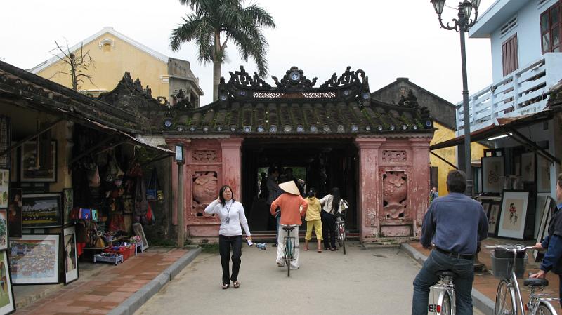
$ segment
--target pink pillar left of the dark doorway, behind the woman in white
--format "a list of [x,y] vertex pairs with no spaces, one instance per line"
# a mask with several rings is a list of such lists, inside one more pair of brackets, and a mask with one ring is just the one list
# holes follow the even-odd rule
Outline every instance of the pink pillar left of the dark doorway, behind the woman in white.
[[223,157],[223,183],[222,185],[229,185],[233,189],[234,198],[240,200],[241,195],[241,182],[242,182],[242,138],[228,138],[221,139],[221,152]]

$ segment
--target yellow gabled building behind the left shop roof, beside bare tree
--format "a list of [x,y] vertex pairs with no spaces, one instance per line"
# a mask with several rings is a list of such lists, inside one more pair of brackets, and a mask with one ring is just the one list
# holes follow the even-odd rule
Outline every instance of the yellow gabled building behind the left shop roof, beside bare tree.
[[[70,47],[69,51],[79,54],[81,48],[84,53],[89,53],[95,66],[84,71],[84,74],[88,74],[92,79],[90,82],[84,78],[84,82],[80,83],[79,91],[82,93],[98,96],[100,93],[112,91],[124,73],[129,72],[133,79],[140,79],[143,88],[148,86],[155,98],[164,96],[174,105],[172,95],[177,95],[181,89],[193,107],[200,106],[203,91],[199,86],[199,78],[191,72],[190,64],[186,60],[169,58],[112,27],[103,28]],[[63,57],[60,53],[29,71],[72,88],[70,76],[61,73],[70,72],[70,67],[60,60]]]

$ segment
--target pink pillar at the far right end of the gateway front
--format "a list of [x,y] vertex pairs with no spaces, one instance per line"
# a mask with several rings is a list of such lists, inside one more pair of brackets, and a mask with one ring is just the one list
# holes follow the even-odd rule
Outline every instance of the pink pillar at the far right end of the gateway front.
[[431,138],[410,138],[412,146],[412,188],[408,189],[412,202],[412,215],[414,236],[421,234],[421,225],[429,206],[429,142]]

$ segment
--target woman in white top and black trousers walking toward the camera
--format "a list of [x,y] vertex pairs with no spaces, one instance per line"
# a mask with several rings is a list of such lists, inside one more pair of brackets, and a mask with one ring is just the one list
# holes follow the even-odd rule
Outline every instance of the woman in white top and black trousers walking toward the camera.
[[[221,227],[218,229],[218,251],[221,254],[221,264],[223,266],[223,289],[228,289],[230,281],[233,281],[234,288],[240,288],[238,282],[238,272],[242,260],[242,227],[246,232],[246,239],[251,241],[251,233],[248,221],[244,214],[242,203],[233,198],[233,189],[228,185],[221,187],[218,198],[211,202],[205,213],[218,215],[221,220]],[[230,276],[230,266],[228,256],[232,248],[233,272]]]

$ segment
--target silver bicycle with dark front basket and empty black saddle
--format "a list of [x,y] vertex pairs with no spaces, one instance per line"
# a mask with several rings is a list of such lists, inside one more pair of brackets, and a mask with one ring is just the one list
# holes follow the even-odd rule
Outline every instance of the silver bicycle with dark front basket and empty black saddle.
[[[486,248],[494,249],[492,255],[492,271],[494,276],[500,278],[497,285],[495,313],[497,315],[558,315],[556,310],[550,304],[552,301],[560,299],[546,297],[545,293],[535,293],[542,291],[549,285],[547,279],[529,278],[523,281],[523,286],[529,288],[529,302],[523,304],[521,298],[521,290],[517,282],[517,276],[523,276],[525,272],[525,262],[527,260],[526,250],[532,246],[486,246]],[[501,250],[498,250],[501,249]],[[510,257],[497,257],[497,255],[509,254]],[[523,253],[523,257],[521,256]],[[525,309],[527,313],[525,313]]]

